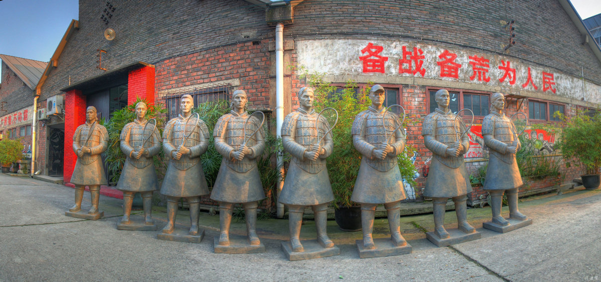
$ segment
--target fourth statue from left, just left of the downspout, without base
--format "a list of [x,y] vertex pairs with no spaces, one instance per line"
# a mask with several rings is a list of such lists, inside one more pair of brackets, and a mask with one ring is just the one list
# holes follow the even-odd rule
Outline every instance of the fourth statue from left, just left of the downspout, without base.
[[[219,222],[221,235],[219,245],[230,245],[230,223],[235,203],[242,203],[246,216],[246,230],[251,245],[259,245],[257,236],[257,201],[265,198],[261,177],[257,168],[257,157],[263,153],[265,142],[261,129],[242,146],[245,136],[244,126],[249,117],[246,112],[246,92],[236,90],[232,94],[231,111],[222,115],[213,130],[215,149],[223,155],[221,167],[213,185],[211,199],[219,201]],[[261,126],[260,120],[246,125],[248,136]]]

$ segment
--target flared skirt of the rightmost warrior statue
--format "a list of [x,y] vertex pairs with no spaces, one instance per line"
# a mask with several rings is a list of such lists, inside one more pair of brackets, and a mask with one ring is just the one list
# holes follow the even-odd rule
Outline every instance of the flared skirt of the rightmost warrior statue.
[[494,154],[490,154],[486,179],[484,179],[484,190],[507,190],[522,185],[522,176],[520,176],[515,159],[512,164],[507,164]]

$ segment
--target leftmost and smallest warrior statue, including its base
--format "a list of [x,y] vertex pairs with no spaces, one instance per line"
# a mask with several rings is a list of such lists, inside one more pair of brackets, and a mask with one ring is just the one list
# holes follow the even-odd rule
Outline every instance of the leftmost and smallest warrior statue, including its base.
[[[73,134],[73,152],[78,156],[71,183],[75,184],[75,205],[65,213],[67,216],[96,220],[102,218],[99,212],[100,185],[106,185],[105,169],[100,154],[108,147],[106,128],[98,124],[96,108],[88,106],[85,111],[85,123],[78,126]],[[90,187],[92,208],[81,213],[81,201],[85,186]]]

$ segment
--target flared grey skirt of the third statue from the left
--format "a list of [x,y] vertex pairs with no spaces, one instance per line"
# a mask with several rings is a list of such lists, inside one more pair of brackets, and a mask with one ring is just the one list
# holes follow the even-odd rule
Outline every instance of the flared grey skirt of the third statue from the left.
[[178,170],[169,162],[160,194],[169,197],[196,197],[209,194],[207,179],[200,161],[188,170]]

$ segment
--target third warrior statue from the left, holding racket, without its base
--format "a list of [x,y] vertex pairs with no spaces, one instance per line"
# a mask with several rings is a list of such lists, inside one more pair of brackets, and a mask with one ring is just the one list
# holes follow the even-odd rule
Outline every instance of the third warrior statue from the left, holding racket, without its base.
[[200,156],[209,148],[209,129],[203,120],[192,116],[194,101],[186,94],[181,99],[181,112],[165,125],[163,150],[170,161],[160,194],[167,197],[167,224],[162,233],[172,233],[175,226],[177,202],[186,198],[190,207],[189,234],[198,235],[200,196],[209,194]]

